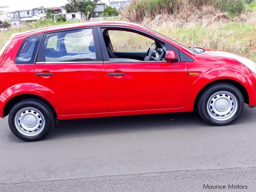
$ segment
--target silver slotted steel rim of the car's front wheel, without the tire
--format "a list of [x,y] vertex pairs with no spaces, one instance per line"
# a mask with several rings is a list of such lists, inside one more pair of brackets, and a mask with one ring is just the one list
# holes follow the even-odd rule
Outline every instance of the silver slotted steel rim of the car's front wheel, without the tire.
[[220,91],[210,96],[207,102],[209,115],[216,120],[228,120],[237,111],[237,99],[228,91]]

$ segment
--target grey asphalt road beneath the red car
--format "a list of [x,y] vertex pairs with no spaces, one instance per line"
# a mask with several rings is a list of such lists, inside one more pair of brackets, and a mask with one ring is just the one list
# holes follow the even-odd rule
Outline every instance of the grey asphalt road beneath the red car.
[[0,119],[0,191],[256,191],[255,117],[245,106],[225,127],[193,113],[68,120],[37,142]]

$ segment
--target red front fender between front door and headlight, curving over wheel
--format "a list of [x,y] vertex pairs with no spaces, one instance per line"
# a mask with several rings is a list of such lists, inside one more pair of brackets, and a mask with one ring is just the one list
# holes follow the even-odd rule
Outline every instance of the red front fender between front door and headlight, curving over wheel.
[[238,81],[244,73],[233,68],[216,68],[197,76],[189,75],[189,87],[184,107],[180,108],[181,112],[193,111],[195,99],[199,92],[208,84],[218,80]]

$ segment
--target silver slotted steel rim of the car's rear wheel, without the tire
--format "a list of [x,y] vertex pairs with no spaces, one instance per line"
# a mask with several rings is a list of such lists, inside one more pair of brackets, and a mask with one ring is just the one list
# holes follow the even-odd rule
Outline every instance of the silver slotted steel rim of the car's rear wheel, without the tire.
[[38,109],[26,107],[15,115],[15,126],[21,134],[35,136],[43,131],[45,118]]

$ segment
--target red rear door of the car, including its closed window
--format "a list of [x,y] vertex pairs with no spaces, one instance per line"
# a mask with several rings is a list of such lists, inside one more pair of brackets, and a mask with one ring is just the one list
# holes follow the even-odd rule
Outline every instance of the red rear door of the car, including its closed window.
[[62,115],[108,112],[107,85],[97,30],[48,33],[34,67],[35,89]]

